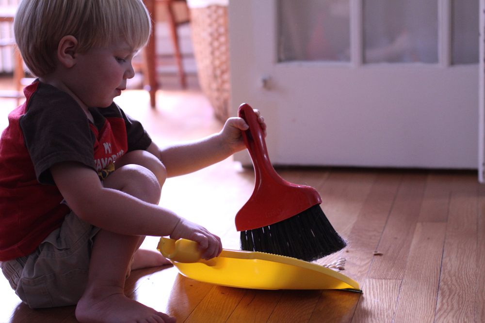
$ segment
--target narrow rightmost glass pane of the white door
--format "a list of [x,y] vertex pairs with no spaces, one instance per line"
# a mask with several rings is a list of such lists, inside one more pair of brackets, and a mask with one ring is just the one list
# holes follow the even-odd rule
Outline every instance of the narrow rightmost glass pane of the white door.
[[453,0],[452,63],[478,63],[479,2]]

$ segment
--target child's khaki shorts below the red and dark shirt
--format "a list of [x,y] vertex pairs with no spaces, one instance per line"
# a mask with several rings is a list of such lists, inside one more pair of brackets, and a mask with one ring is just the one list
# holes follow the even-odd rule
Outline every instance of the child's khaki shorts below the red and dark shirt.
[[71,212],[32,254],[1,262],[3,275],[31,308],[77,304],[86,288],[98,231]]

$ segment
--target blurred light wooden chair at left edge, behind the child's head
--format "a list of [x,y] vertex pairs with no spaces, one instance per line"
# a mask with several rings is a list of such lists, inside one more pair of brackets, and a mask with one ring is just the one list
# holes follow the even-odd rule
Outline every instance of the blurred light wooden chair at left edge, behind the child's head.
[[[16,6],[0,6],[0,23],[10,23],[14,21]],[[23,96],[22,92],[22,78],[25,77],[23,68],[23,61],[20,52],[16,48],[15,39],[12,37],[0,39],[0,47],[10,46],[14,49],[14,86],[15,90],[0,91],[1,97],[17,98],[17,103],[20,97]]]

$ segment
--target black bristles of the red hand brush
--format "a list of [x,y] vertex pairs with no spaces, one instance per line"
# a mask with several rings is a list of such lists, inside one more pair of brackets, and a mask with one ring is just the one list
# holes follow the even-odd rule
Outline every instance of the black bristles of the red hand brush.
[[241,249],[314,261],[347,246],[320,205],[263,228],[241,231]]

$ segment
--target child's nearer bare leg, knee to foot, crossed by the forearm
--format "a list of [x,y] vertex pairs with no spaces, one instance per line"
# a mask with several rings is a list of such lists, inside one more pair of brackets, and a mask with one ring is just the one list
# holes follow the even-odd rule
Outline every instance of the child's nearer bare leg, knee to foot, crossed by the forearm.
[[[118,168],[104,181],[104,186],[122,190],[150,203],[160,199],[158,180],[151,171],[137,165]],[[142,239],[106,230],[97,233],[88,284],[76,308],[76,318],[80,322],[175,322],[174,318],[124,294],[129,263]]]

